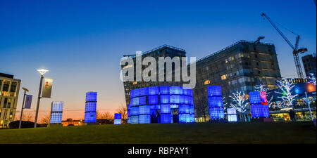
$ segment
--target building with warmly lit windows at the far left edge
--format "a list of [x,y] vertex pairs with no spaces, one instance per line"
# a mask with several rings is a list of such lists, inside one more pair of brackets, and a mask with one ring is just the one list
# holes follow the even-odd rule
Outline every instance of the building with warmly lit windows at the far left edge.
[[0,128],[8,128],[15,117],[20,83],[13,75],[0,73]]

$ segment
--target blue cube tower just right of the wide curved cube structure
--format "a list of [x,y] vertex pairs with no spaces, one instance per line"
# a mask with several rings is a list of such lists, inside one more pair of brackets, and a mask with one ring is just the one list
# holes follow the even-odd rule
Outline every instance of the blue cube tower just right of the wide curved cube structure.
[[223,111],[223,97],[221,86],[207,87],[209,100],[209,114],[211,119],[224,119],[225,112]]

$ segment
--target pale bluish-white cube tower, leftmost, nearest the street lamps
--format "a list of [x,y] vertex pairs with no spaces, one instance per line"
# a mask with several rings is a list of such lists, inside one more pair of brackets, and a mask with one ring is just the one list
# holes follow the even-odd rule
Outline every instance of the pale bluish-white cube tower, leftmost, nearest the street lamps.
[[63,102],[52,102],[51,103],[51,119],[50,124],[61,124],[61,119],[63,115]]

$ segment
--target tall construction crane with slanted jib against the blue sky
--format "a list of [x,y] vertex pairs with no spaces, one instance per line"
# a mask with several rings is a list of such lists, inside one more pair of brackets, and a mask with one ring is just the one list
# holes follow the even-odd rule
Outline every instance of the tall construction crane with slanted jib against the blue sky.
[[[262,13],[261,16],[264,16],[268,22],[271,23],[271,25],[276,29],[276,31],[278,31],[278,33],[280,34],[280,36],[282,36],[282,38],[287,42],[287,44],[293,49],[293,56],[294,56],[294,61],[295,61],[295,67],[297,70],[297,75],[299,77],[299,79],[303,79],[304,78],[304,74],[302,71],[302,66],[301,66],[301,62],[299,60],[299,53],[304,53],[305,51],[307,51],[307,48],[300,48],[298,49],[298,45],[299,45],[299,35],[297,35],[296,37],[296,42],[293,45],[290,40],[287,39],[287,37],[285,37],[285,35],[280,31],[280,29],[278,29],[278,27],[274,24],[274,22],[271,20],[271,18],[269,18],[265,13]],[[294,32],[292,32],[292,34],[294,34]]]

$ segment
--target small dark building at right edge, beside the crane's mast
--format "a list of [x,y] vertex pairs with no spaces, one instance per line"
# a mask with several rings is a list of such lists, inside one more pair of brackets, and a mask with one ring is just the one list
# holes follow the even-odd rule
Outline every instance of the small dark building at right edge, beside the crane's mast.
[[316,54],[303,56],[302,62],[306,77],[308,78],[310,73],[313,73],[316,76]]

